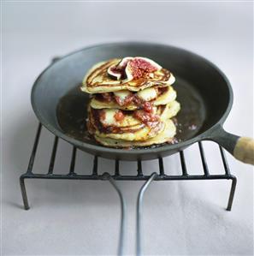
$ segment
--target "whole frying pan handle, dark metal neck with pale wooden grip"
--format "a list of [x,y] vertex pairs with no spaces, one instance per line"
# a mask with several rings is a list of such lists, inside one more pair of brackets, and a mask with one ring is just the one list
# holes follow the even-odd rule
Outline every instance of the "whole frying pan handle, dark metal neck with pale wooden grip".
[[252,138],[229,134],[222,126],[219,126],[211,134],[210,140],[216,141],[239,161],[254,165],[254,140]]

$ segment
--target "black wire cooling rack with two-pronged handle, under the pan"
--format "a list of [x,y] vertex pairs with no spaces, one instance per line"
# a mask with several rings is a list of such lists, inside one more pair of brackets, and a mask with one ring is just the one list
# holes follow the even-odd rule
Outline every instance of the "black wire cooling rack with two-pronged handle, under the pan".
[[73,146],[73,152],[72,152],[72,158],[70,162],[70,167],[69,167],[69,172],[68,174],[65,175],[58,175],[54,174],[54,164],[55,164],[55,158],[56,158],[56,150],[57,150],[57,144],[58,144],[58,137],[55,136],[54,140],[54,145],[52,148],[51,152],[51,157],[50,157],[50,165],[49,165],[49,170],[47,174],[34,174],[32,172],[32,166],[34,163],[37,147],[38,147],[38,142],[40,138],[40,133],[42,129],[42,124],[38,124],[38,130],[37,134],[35,136],[34,144],[32,147],[32,153],[31,157],[29,160],[27,172],[20,177],[20,182],[21,182],[21,193],[22,193],[22,198],[24,202],[24,208],[25,210],[29,209],[28,205],[28,199],[27,199],[27,190],[25,186],[25,179],[55,179],[55,180],[108,180],[112,186],[115,188],[115,191],[118,193],[120,201],[121,201],[121,228],[120,228],[120,240],[118,244],[118,254],[121,255],[124,250],[124,236],[125,236],[125,224],[126,224],[126,204],[125,200],[122,196],[121,190],[118,188],[117,183],[115,180],[119,181],[146,181],[143,187],[139,191],[139,196],[137,200],[137,255],[141,254],[141,216],[142,216],[142,201],[144,197],[145,190],[149,187],[152,181],[193,181],[193,180],[232,180],[231,184],[231,190],[229,194],[229,199],[227,203],[227,211],[231,211],[232,204],[233,204],[233,195],[236,187],[236,182],[237,179],[235,176],[233,176],[230,173],[228,164],[227,164],[227,159],[225,156],[225,153],[222,149],[221,146],[220,152],[222,156],[222,163],[223,167],[225,170],[225,174],[220,174],[220,175],[210,175],[207,163],[206,163],[206,158],[204,156],[204,148],[202,145],[202,142],[198,142],[198,147],[199,147],[199,152],[200,152],[200,157],[202,160],[203,164],[203,170],[204,170],[204,175],[189,175],[187,172],[186,168],[186,161],[185,161],[185,156],[184,152],[180,151],[180,164],[181,164],[181,170],[182,170],[182,175],[179,176],[170,176],[166,175],[164,173],[164,165],[163,165],[163,159],[158,158],[158,164],[159,164],[159,173],[154,172],[151,174],[151,176],[146,176],[143,174],[142,171],[142,162],[139,160],[137,161],[138,164],[138,170],[137,170],[137,175],[136,176],[123,176],[121,175],[119,171],[119,160],[115,160],[115,174],[114,175],[109,175],[109,173],[105,172],[102,175],[99,175],[97,173],[97,157],[94,157],[93,160],[93,168],[92,168],[92,173],[90,175],[79,175],[75,173],[75,158],[76,158],[76,152],[77,148]]

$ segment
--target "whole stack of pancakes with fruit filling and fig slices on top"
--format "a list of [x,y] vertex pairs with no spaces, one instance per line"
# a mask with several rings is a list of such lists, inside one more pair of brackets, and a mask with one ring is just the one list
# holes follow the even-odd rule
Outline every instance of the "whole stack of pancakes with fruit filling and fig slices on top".
[[97,63],[81,86],[92,95],[89,133],[110,147],[172,143],[176,128],[171,118],[180,110],[174,80],[167,69],[145,57]]

